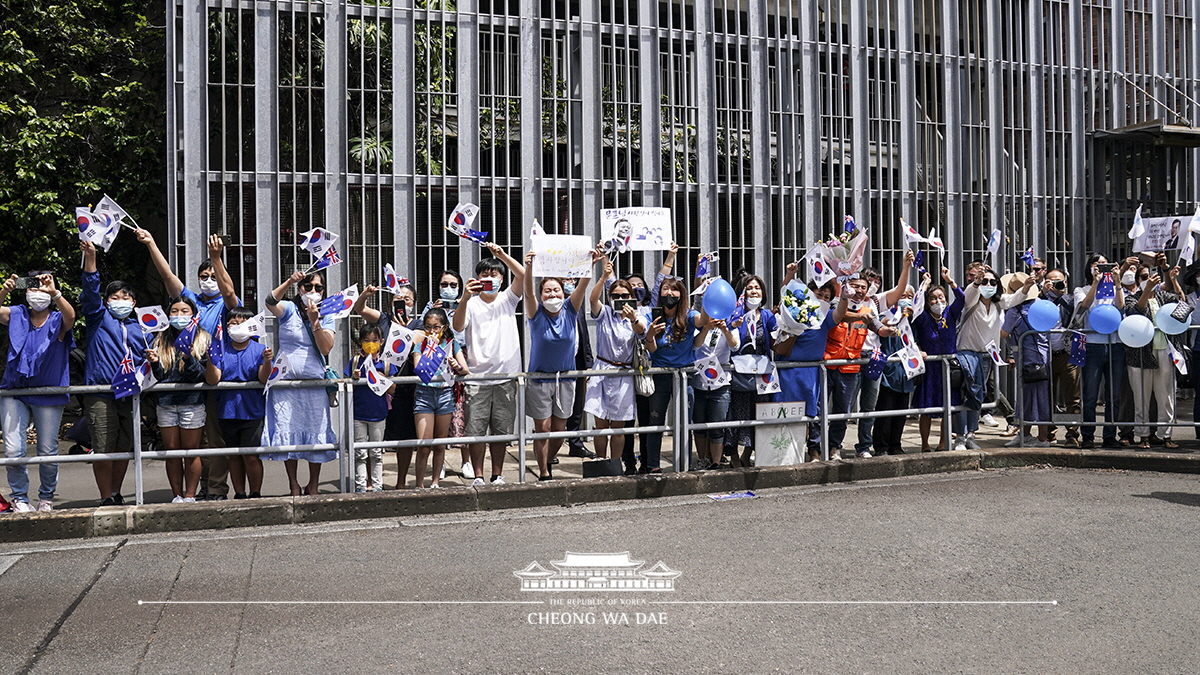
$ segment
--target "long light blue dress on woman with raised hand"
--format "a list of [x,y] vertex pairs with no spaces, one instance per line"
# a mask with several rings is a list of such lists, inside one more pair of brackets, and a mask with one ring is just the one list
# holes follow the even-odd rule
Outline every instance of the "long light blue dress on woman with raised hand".
[[[325,360],[312,344],[305,317],[295,304],[283,300],[280,317],[280,352],[287,354],[290,372],[287,380],[320,380],[325,376]],[[322,319],[322,327],[334,329],[334,319]],[[263,424],[263,446],[310,446],[336,443],[337,436],[329,422],[329,396],[324,387],[284,389],[271,387],[266,393],[266,419]],[[326,462],[337,459],[337,450],[313,453],[265,453],[266,460],[302,459]]]

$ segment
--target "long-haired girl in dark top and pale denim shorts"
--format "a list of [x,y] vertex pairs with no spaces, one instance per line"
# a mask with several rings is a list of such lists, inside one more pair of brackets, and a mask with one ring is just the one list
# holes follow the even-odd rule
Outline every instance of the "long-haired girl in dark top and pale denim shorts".
[[[170,325],[158,334],[146,360],[162,383],[204,382],[204,360],[211,336],[199,327],[196,303],[179,298],[168,307]],[[204,392],[158,394],[158,432],[167,450],[200,447],[206,411]],[[167,480],[174,494],[172,503],[194,502],[200,485],[200,458],[168,459]]]

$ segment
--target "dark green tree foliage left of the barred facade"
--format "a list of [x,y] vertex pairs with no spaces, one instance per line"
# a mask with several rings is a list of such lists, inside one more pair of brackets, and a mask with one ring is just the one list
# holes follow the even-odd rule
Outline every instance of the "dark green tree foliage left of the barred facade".
[[[78,280],[74,208],[104,193],[143,227],[166,219],[161,1],[0,0],[0,273]],[[128,231],[101,257],[139,285]]]

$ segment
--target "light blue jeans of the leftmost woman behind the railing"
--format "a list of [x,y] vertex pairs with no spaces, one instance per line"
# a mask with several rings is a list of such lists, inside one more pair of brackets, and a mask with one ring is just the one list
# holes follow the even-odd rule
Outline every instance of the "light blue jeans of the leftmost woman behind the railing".
[[[6,458],[25,456],[25,430],[32,419],[34,429],[37,430],[37,454],[38,456],[50,456],[59,454],[59,423],[62,422],[64,406],[31,406],[18,401],[16,396],[0,399],[0,416],[4,425],[4,454]],[[24,465],[10,466],[8,488],[12,490],[12,501],[29,501],[29,471]],[[37,486],[37,496],[46,501],[54,498],[54,490],[59,486],[59,465],[43,464],[37,468],[41,485]]]

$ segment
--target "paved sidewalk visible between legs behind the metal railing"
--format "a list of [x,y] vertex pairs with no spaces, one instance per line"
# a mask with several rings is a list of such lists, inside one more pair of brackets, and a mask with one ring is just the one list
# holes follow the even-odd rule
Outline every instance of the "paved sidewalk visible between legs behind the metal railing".
[[[1178,416],[1181,422],[1192,422],[1192,406],[1190,401],[1186,401],[1183,406],[1180,406]],[[978,432],[978,442],[984,452],[988,450],[1002,450],[1004,444],[1012,440],[1012,437],[1006,437],[1001,435],[1004,426],[1003,420],[1001,422],[1001,428],[986,428],[982,426]],[[1066,435],[1067,428],[1058,428],[1058,442],[1054,444],[1054,449],[1070,449],[1063,444],[1062,440]],[[940,423],[934,422],[930,444],[936,447],[940,431]],[[851,453],[848,448],[853,446],[853,441],[858,437],[857,425],[852,422],[846,429],[845,447],[847,450],[842,452],[842,456],[846,460],[851,460]],[[1196,442],[1196,434],[1193,426],[1181,426],[1175,428],[1174,438],[1181,443],[1181,448],[1177,450],[1165,450],[1162,447],[1153,448],[1156,453],[1176,453],[1192,455],[1200,453],[1200,443]],[[1097,438],[1098,440],[1098,438]],[[60,453],[67,454],[71,442],[64,441],[60,443]],[[587,441],[586,446],[592,449],[592,442]],[[666,435],[662,443],[662,468],[664,471],[670,471],[671,466],[671,447],[672,437],[670,434]],[[910,419],[905,425],[904,435],[904,447],[910,454],[920,452],[920,437],[918,432],[917,420]],[[1102,448],[1097,447],[1097,450]],[[1133,448],[1127,448],[1133,450]],[[30,446],[29,452],[32,454],[35,450]],[[527,446],[527,482],[538,482],[536,476],[536,462],[533,459],[532,444]],[[415,461],[415,453],[414,453]],[[491,460],[485,460],[488,466],[484,471],[484,478],[490,478],[490,464]],[[559,464],[553,467],[556,478],[582,478],[583,476],[583,462],[587,461],[582,458],[568,456],[568,447],[564,443],[562,450],[559,452]],[[283,471],[283,464],[277,461],[265,461],[264,464],[264,480],[263,480],[263,496],[287,496],[288,484],[287,476]],[[695,464],[695,460],[694,462]],[[301,462],[304,465],[304,462]],[[462,478],[458,473],[461,467],[461,453],[457,449],[446,450],[446,477],[442,480],[445,488],[470,485],[470,480]],[[304,483],[307,479],[308,468],[307,466],[300,467],[300,480]],[[410,486],[413,484],[413,470],[409,468],[407,484]],[[145,503],[169,503],[172,500],[172,492],[169,484],[167,482],[167,472],[163,460],[143,460],[143,472],[145,482]],[[30,467],[30,489],[29,494],[31,496],[30,501],[36,503],[37,501],[37,468],[36,466]],[[509,446],[508,458],[504,462],[504,479],[509,484],[518,483],[517,476],[517,448],[516,443]],[[430,476],[426,473],[426,484],[428,484]],[[396,454],[394,452],[384,453],[384,486],[385,490],[394,490],[397,482],[396,474]],[[353,477],[350,478],[350,484],[353,486]],[[320,492],[322,494],[337,494],[338,492],[338,472],[337,464],[330,462],[324,465],[322,471],[320,480]],[[426,490],[426,492],[430,492]],[[130,466],[130,471],[125,479],[125,490],[122,494],[126,497],[126,503],[133,503],[133,466]],[[4,485],[4,495],[8,495],[7,484]],[[230,491],[230,498],[233,492]],[[92,479],[91,464],[89,462],[72,462],[59,465],[59,485],[58,496],[55,497],[54,506],[55,509],[64,508],[92,508],[98,504],[100,496],[96,489],[96,484]]]

